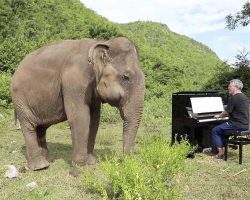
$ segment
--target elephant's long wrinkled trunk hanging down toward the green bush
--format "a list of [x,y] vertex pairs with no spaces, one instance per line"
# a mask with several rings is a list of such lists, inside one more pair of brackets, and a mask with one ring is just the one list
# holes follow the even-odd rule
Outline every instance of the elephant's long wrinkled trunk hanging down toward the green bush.
[[133,94],[121,109],[123,122],[123,152],[129,154],[135,143],[144,104],[144,83],[134,88]]

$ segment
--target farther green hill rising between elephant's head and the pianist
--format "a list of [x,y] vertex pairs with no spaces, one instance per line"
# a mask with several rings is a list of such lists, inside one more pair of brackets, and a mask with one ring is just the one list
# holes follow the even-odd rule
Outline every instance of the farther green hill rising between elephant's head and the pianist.
[[211,49],[172,32],[164,24],[134,22],[120,27],[140,49],[147,87],[154,96],[181,90],[201,90],[218,74],[222,61]]

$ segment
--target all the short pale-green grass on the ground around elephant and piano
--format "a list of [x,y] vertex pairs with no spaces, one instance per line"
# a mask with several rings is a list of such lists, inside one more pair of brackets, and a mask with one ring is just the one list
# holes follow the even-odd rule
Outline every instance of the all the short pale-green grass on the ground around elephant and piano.
[[[84,187],[86,171],[101,176],[101,163],[113,152],[122,151],[121,124],[101,125],[97,137],[95,153],[98,163],[80,170],[80,178],[68,175],[71,166],[71,135],[66,125],[53,126],[48,130],[48,147],[55,162],[46,170],[20,173],[15,179],[5,178],[7,165],[26,166],[25,146],[22,133],[16,130],[12,121],[0,128],[0,197],[1,199],[102,199],[100,195],[90,193]],[[154,130],[154,129],[152,129]],[[170,131],[166,127],[156,128],[158,133]],[[138,138],[142,139],[144,128]],[[151,134],[158,134],[153,133]],[[229,150],[228,161],[216,160],[211,156],[196,154],[194,159],[185,159],[189,168],[185,176],[177,175],[174,182],[180,185],[182,197],[176,199],[250,199],[250,145],[243,148],[243,164],[238,164],[238,151]],[[35,181],[37,188],[29,190],[28,183]],[[172,183],[169,183],[172,184]]]

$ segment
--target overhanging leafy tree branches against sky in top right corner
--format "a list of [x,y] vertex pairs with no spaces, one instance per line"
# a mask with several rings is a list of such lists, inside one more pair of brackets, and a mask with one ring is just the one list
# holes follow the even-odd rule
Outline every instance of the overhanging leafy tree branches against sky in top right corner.
[[226,16],[226,26],[229,30],[234,30],[241,26],[247,26],[250,23],[250,2],[247,1],[240,12],[235,15],[229,14]]

